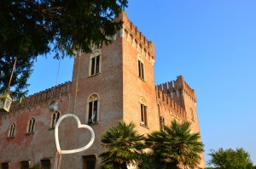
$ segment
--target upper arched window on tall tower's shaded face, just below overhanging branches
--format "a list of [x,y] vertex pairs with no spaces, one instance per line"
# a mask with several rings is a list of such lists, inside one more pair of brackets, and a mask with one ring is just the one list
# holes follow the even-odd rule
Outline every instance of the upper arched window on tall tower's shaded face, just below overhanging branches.
[[100,50],[94,51],[92,54],[90,54],[90,70],[89,70],[89,76],[94,76],[101,72],[102,70],[102,52]]

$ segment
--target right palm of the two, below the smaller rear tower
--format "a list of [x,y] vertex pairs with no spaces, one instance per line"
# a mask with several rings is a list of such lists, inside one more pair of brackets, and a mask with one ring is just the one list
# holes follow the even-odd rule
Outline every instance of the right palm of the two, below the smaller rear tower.
[[148,135],[146,144],[153,150],[156,168],[194,168],[200,164],[203,144],[199,132],[190,132],[190,125],[172,121],[170,127]]

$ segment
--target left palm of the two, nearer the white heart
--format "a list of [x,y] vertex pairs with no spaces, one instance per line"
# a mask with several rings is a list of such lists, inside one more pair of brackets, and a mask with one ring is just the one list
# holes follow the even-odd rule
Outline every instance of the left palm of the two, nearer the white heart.
[[143,138],[135,131],[134,123],[127,125],[119,121],[118,126],[109,128],[102,134],[102,145],[106,149],[100,155],[103,168],[126,169],[127,165],[137,165],[144,149]]

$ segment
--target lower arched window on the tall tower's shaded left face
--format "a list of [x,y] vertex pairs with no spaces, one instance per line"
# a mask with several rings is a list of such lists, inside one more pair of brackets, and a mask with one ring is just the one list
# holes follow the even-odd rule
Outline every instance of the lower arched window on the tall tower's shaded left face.
[[88,99],[88,124],[96,123],[99,116],[99,99],[96,94],[92,94]]

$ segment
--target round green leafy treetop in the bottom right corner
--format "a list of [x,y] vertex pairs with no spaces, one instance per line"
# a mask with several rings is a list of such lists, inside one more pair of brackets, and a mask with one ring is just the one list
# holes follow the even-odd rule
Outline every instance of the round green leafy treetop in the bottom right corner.
[[218,149],[211,150],[211,160],[209,165],[216,166],[220,169],[253,169],[253,163],[250,160],[250,155],[244,149]]

